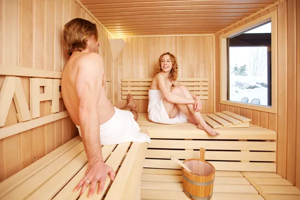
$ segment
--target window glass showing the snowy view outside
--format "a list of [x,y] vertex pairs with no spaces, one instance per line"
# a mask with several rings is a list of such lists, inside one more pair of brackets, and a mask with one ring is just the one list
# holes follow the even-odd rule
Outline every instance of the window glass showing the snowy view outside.
[[227,100],[271,106],[271,22],[227,38]]

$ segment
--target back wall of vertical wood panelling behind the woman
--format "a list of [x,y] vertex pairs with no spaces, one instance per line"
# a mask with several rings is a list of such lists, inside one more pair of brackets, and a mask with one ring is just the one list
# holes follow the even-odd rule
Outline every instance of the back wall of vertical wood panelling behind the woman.
[[[126,44],[114,62],[114,104],[126,105],[121,99],[121,78],[154,77],[157,61],[163,52],[177,57],[178,77],[209,78],[209,96],[202,100],[202,112],[213,112],[213,35],[154,36],[124,38]],[[135,100],[138,112],[147,112],[148,99]]]

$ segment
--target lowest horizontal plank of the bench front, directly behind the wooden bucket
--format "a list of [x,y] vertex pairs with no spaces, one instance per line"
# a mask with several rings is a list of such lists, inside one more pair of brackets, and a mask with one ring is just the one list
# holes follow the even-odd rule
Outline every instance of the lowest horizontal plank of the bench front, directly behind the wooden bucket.
[[[228,162],[228,161],[209,161],[216,170],[224,171],[265,171],[275,172],[276,164],[273,162]],[[167,168],[180,169],[180,165],[172,160],[145,159],[143,167],[147,168]]]

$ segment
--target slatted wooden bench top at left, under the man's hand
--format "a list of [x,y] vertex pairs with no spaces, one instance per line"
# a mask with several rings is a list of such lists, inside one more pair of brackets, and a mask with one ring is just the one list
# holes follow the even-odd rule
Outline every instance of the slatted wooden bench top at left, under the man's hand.
[[[139,180],[146,148],[145,142],[102,146],[105,163],[116,171],[116,176],[112,183],[107,177],[102,193],[95,192],[91,199],[140,199]],[[72,190],[84,177],[87,164],[81,137],[76,136],[2,181],[0,199],[77,199],[80,190]],[[79,199],[87,199],[88,189]]]

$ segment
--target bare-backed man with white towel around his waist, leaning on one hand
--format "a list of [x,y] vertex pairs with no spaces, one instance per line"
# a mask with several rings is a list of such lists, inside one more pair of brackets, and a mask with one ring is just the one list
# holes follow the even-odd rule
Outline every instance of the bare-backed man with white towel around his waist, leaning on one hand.
[[149,142],[149,137],[139,132],[136,123],[136,104],[131,95],[128,104],[118,109],[112,105],[105,91],[105,75],[96,25],[75,18],[63,29],[64,48],[69,59],[61,77],[61,94],[64,105],[82,137],[88,159],[85,176],[74,188],[80,194],[90,184],[88,197],[94,193],[97,182],[99,194],[107,174],[113,180],[113,169],[104,163],[101,145],[126,141]]

